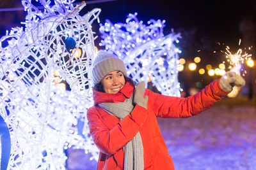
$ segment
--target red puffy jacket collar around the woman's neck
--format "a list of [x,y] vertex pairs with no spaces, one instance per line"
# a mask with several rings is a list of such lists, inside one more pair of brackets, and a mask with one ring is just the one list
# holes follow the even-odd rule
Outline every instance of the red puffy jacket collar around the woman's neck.
[[121,90],[119,90],[116,94],[98,92],[95,89],[93,89],[93,99],[94,99],[95,105],[97,103],[124,102],[125,99],[131,97],[133,90],[134,90],[134,87],[129,82],[126,82],[124,87]]

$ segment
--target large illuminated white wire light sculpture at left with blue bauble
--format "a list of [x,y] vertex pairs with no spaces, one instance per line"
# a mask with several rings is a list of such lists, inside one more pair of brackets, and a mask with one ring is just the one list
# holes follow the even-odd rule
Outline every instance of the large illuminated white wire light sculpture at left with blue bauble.
[[[0,114],[12,144],[8,169],[65,169],[63,150],[70,146],[90,151],[92,159],[98,155],[88,128],[82,134],[76,125],[87,124],[93,104],[88,71],[95,55],[92,22],[100,9],[80,16],[85,3],[39,2],[44,10],[22,0],[25,30],[15,27],[0,39]],[[54,85],[56,69],[72,92]]]

